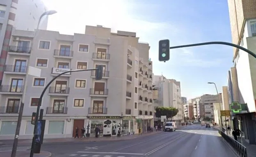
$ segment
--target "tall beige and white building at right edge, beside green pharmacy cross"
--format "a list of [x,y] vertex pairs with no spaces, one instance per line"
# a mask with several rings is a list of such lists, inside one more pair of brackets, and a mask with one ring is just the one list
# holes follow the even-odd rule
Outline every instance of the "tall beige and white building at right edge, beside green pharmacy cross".
[[[255,51],[256,1],[228,0],[228,4],[232,42]],[[256,135],[254,134],[256,127],[256,118],[254,116],[256,111],[256,59],[248,53],[234,48],[233,63],[237,71],[239,103],[247,103],[248,108],[248,113],[236,114],[233,117],[244,122],[242,125],[238,124],[238,122],[235,123],[245,129],[245,139],[250,144],[256,144]],[[235,91],[233,92],[235,93]]]

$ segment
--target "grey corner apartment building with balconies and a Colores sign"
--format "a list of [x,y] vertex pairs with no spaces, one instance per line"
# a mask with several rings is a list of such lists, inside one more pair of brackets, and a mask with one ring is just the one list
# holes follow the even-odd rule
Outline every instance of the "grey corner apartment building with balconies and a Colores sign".
[[[139,43],[136,33],[112,33],[110,28],[86,26],[85,34],[39,30],[33,37],[33,31],[12,32],[0,88],[1,139],[13,138],[23,94],[20,138],[31,138],[31,115],[46,84],[63,71],[98,65],[104,66],[102,80],[95,80],[95,71],[66,73],[47,89],[41,106],[46,119],[45,138],[73,137],[75,127],[88,125],[90,136],[95,135],[96,126],[101,136],[116,136],[120,125],[122,135],[152,126],[150,46]],[[21,44],[23,41],[29,44]],[[25,77],[28,66],[41,69],[41,77]]]

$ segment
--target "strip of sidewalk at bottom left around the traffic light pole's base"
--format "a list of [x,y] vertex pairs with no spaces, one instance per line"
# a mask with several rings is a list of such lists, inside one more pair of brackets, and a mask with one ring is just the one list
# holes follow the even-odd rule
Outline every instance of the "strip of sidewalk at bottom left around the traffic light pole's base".
[[[10,157],[11,152],[1,152],[1,157]],[[30,156],[30,151],[17,151],[16,157],[29,157]],[[39,154],[34,153],[34,157],[51,157],[52,153],[46,152],[46,151],[41,151]]]

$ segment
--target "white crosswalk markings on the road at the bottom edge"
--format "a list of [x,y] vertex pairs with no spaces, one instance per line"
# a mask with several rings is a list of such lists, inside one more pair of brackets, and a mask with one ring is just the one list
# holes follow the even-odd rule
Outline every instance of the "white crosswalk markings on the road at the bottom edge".
[[140,157],[139,153],[118,153],[118,152],[76,152],[68,157]]

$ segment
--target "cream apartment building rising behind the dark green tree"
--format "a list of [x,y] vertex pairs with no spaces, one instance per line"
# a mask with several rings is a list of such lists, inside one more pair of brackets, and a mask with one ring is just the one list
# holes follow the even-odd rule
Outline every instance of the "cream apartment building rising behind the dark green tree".
[[162,75],[154,75],[153,82],[153,85],[158,87],[159,106],[178,108],[179,112],[172,120],[181,122],[184,115],[181,102],[181,82],[167,79]]

